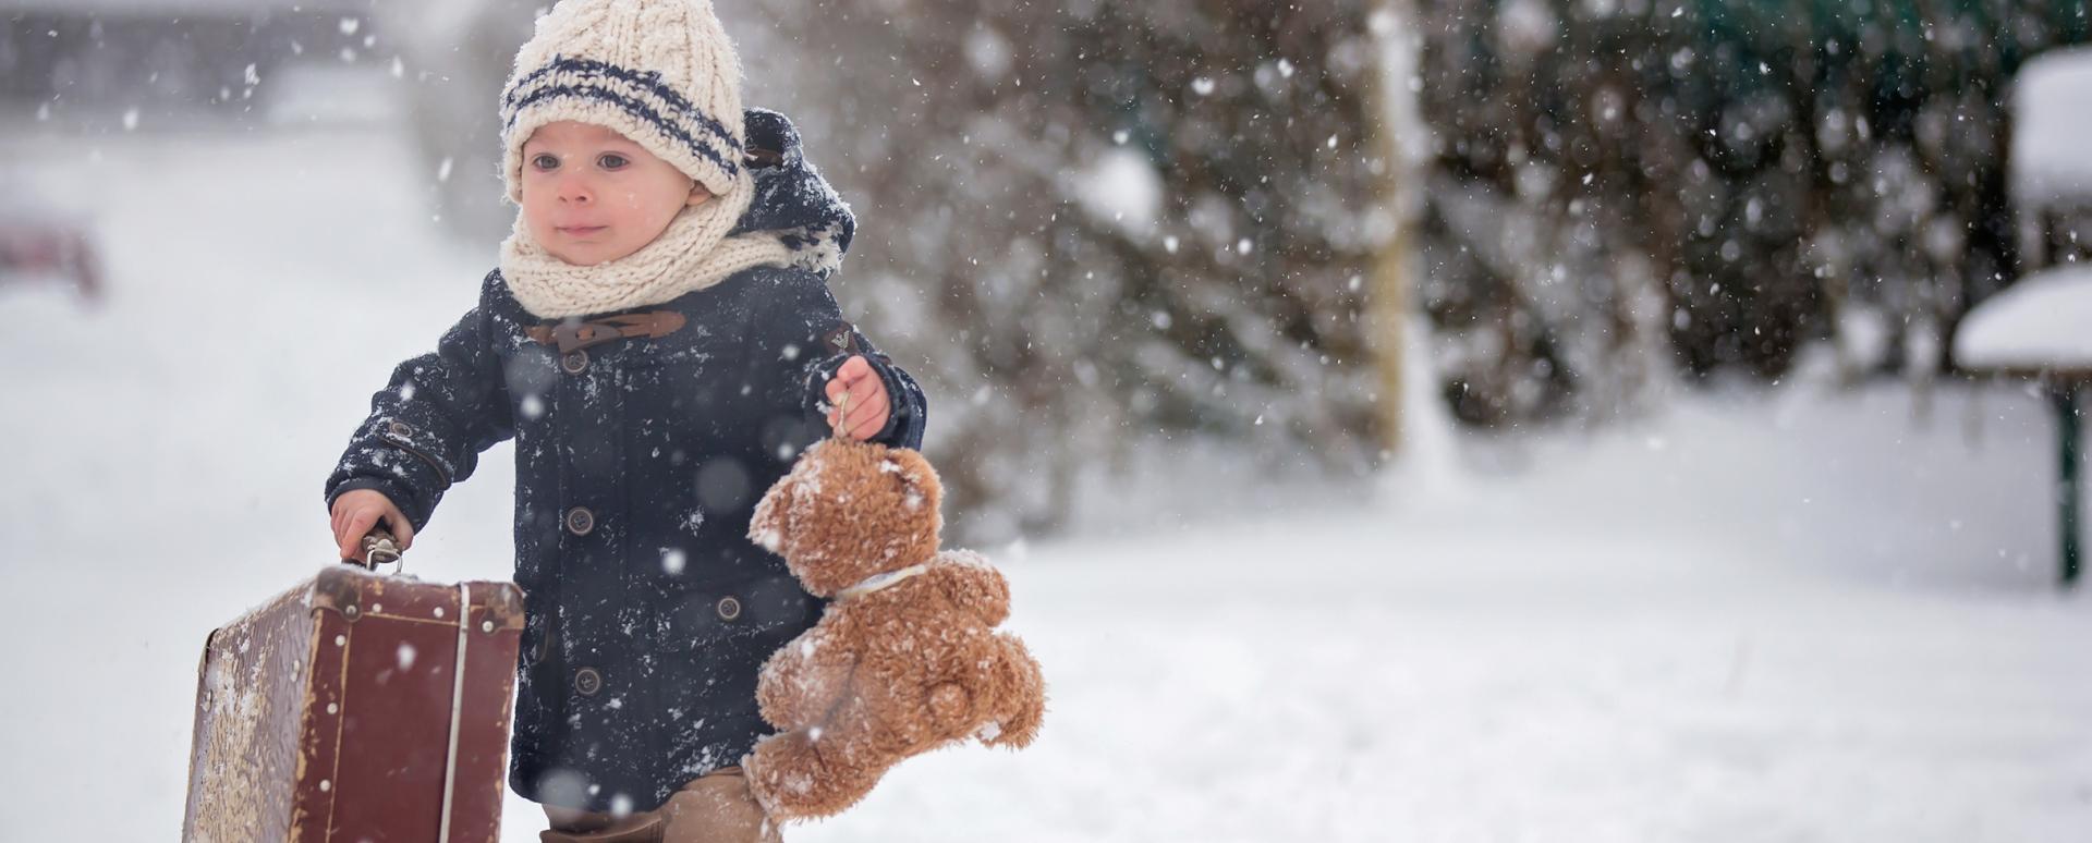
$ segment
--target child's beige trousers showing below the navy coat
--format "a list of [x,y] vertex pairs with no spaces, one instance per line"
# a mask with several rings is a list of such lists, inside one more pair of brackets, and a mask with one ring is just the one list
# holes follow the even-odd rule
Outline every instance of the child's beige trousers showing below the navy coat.
[[782,843],[741,768],[684,784],[657,810],[630,816],[544,805],[542,843]]

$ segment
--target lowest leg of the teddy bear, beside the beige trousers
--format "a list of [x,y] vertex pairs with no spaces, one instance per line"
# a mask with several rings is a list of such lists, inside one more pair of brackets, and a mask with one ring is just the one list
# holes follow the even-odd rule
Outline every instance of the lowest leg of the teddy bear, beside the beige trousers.
[[747,759],[749,789],[780,822],[835,816],[879,784],[885,766],[870,764],[877,759],[862,743],[793,730],[755,745]]

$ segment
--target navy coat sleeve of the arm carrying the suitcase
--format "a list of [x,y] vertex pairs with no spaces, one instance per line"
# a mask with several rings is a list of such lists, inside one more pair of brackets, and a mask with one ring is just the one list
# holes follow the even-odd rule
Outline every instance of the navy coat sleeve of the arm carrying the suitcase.
[[479,452],[515,435],[494,339],[490,297],[481,295],[435,351],[393,368],[326,477],[328,508],[343,492],[377,489],[420,531],[444,492],[473,475]]

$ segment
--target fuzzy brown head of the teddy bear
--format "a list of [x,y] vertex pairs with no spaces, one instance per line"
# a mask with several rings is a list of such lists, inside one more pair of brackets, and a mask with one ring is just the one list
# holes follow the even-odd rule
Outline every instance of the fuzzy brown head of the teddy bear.
[[816,596],[937,554],[943,485],[923,454],[822,439],[755,504],[749,540]]

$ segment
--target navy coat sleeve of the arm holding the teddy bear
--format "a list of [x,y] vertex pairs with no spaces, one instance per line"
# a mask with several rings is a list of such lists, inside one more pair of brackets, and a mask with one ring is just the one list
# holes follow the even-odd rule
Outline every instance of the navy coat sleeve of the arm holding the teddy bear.
[[[887,397],[893,402],[887,425],[870,441],[893,448],[923,448],[923,429],[929,418],[929,400],[893,358],[849,320],[843,318],[828,284],[812,272],[789,270],[780,276],[772,305],[759,316],[755,360],[774,360],[778,370],[772,389],[780,389],[780,404],[797,406],[803,418],[826,433],[828,397],[822,391],[835,370],[851,356],[864,356],[879,379],[885,381]],[[818,439],[818,435],[814,437]]]

